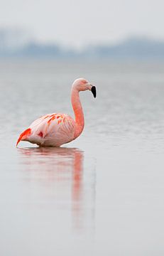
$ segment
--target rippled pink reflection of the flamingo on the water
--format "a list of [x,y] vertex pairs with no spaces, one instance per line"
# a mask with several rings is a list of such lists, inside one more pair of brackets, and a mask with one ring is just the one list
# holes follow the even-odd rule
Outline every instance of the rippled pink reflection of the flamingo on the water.
[[[74,228],[82,228],[84,218],[84,153],[75,148],[19,148],[26,181],[33,187],[33,200],[72,209]],[[42,189],[40,189],[42,188]],[[35,192],[39,191],[39,192]],[[69,207],[70,205],[70,207]]]

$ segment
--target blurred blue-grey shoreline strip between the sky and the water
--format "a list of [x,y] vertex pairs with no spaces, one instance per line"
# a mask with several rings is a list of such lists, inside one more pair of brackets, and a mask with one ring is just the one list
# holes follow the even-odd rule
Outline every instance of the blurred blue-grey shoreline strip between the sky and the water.
[[0,29],[0,60],[1,59],[45,59],[45,60],[164,60],[164,41],[144,37],[126,38],[114,43],[95,43],[77,50],[61,46],[58,43],[41,43],[26,38],[21,33],[1,31]]

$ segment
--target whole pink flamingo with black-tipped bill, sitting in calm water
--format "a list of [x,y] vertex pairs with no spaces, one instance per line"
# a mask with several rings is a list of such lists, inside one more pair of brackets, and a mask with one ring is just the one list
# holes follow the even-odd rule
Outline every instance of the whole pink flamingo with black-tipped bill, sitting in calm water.
[[45,114],[20,134],[16,146],[21,141],[38,146],[61,146],[79,137],[84,129],[84,114],[79,92],[85,90],[90,90],[94,97],[97,96],[96,87],[84,78],[78,78],[72,83],[71,102],[75,120],[68,114]]

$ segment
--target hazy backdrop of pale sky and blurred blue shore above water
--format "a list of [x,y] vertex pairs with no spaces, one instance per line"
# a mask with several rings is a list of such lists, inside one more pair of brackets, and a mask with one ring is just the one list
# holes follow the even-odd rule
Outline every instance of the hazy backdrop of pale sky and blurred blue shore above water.
[[160,0],[1,1],[0,54],[164,58],[163,8]]

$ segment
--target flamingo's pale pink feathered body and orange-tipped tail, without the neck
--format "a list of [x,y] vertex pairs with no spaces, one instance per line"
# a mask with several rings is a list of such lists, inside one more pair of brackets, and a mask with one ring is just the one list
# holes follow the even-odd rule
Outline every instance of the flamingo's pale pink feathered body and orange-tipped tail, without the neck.
[[20,135],[18,142],[25,140],[39,146],[60,146],[75,139],[75,125],[67,114],[45,114],[30,125],[27,136]]

